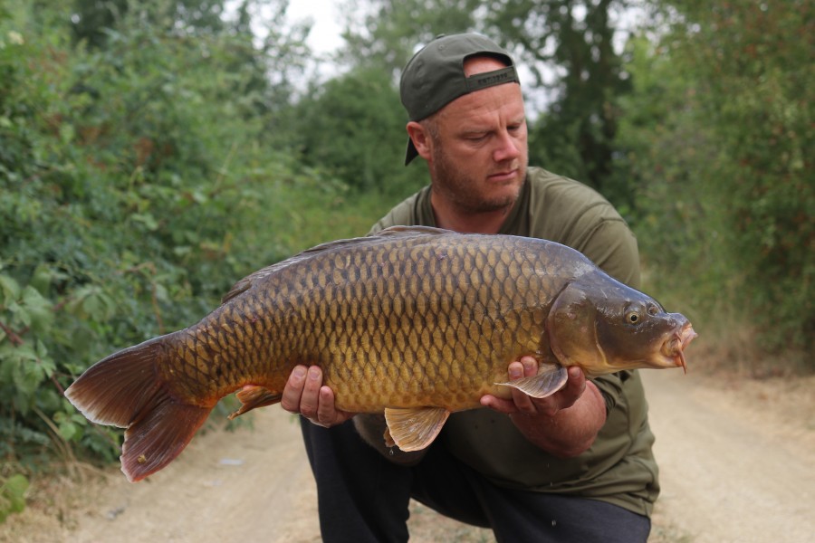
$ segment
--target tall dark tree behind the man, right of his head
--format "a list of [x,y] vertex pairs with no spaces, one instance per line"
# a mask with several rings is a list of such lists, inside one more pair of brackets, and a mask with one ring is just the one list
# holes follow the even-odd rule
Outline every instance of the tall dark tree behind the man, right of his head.
[[625,0],[495,0],[485,28],[519,53],[551,102],[530,131],[530,160],[630,204],[613,155],[617,100],[629,90],[614,49]]

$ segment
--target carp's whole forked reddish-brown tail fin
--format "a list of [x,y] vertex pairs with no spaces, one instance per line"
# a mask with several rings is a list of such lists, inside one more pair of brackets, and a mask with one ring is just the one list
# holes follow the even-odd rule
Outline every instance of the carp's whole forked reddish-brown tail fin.
[[214,405],[181,402],[158,376],[177,334],[150,339],[97,362],[65,391],[89,420],[127,428],[121,471],[141,481],[172,462],[204,424]]

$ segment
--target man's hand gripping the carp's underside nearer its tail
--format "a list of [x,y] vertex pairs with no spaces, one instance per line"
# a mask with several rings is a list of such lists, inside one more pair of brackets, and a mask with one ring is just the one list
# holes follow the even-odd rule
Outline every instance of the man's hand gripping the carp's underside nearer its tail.
[[344,423],[354,415],[334,406],[334,391],[322,385],[322,370],[317,366],[292,369],[280,405],[289,413],[302,414],[326,428]]

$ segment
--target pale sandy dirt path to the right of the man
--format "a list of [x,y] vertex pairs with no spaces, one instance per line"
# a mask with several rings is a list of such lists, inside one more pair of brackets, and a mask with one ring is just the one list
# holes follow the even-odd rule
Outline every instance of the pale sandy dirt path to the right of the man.
[[652,539],[815,541],[815,380],[643,375],[663,488]]

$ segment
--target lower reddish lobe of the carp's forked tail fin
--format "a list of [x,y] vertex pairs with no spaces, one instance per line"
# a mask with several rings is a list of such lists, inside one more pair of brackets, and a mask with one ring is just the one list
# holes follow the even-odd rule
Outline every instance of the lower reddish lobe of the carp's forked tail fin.
[[211,407],[181,404],[172,396],[154,396],[148,412],[125,431],[121,471],[141,481],[172,462],[196,434]]

